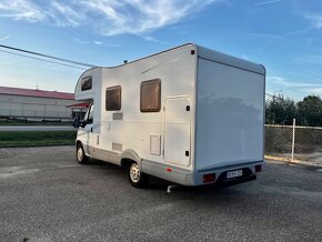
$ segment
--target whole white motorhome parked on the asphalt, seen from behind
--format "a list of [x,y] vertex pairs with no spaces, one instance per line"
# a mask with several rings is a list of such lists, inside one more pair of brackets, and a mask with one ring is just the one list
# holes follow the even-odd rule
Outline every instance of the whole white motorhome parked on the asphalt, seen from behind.
[[249,181],[264,155],[265,69],[197,44],[114,68],[85,71],[76,100],[92,104],[79,128],[77,160],[183,185]]

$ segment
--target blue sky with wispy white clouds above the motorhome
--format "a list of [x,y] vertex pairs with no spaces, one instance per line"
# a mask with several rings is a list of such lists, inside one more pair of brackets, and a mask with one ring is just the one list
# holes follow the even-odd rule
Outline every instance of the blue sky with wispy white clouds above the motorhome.
[[[113,67],[187,42],[264,64],[269,94],[322,97],[321,0],[0,0],[3,46]],[[4,87],[73,92],[87,69],[3,51]]]

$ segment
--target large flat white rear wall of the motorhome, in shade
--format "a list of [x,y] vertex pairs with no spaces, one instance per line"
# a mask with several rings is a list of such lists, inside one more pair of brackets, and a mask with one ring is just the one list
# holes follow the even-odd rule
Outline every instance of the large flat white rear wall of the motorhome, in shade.
[[263,159],[263,74],[199,59],[197,169]]

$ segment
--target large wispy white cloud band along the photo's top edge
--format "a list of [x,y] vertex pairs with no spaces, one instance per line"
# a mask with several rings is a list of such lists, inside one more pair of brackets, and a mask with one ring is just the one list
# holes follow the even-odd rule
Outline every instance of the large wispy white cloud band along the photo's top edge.
[[100,33],[142,34],[177,23],[205,6],[228,0],[2,0],[0,17],[60,27],[90,24]]

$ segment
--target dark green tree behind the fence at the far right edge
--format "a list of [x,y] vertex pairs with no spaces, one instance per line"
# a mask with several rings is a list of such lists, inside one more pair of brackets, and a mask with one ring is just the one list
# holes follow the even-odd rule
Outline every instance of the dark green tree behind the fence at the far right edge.
[[303,125],[322,127],[322,100],[319,95],[308,95],[298,102],[299,117]]

